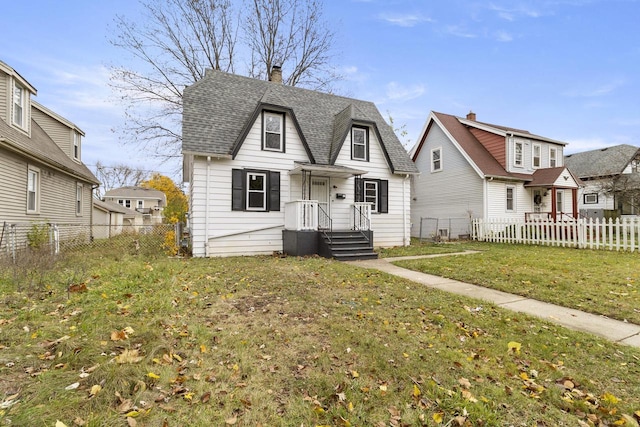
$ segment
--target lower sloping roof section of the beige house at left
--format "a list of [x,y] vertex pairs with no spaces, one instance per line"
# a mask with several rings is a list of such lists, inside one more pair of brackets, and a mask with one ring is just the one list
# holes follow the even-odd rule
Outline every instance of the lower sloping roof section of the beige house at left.
[[35,120],[31,120],[31,138],[0,120],[0,144],[6,144],[12,150],[36,158],[86,182],[99,184],[89,168],[67,156]]

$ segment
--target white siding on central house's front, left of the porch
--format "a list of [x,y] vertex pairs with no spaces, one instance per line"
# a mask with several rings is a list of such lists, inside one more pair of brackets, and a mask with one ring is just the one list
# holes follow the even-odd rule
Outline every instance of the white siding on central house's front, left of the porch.
[[[194,157],[189,183],[194,256],[258,255],[282,250],[284,204],[302,199],[300,176],[289,175],[289,171],[295,161],[309,161],[293,120],[287,116],[284,122],[285,153],[262,149],[259,116],[235,160],[216,159],[207,166],[206,158]],[[279,211],[233,211],[233,169],[280,172]],[[292,185],[295,190],[290,190]]]

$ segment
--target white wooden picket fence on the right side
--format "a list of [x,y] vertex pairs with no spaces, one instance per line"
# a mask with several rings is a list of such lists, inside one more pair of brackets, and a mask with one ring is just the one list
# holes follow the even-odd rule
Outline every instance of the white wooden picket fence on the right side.
[[472,238],[483,242],[523,243],[616,251],[640,251],[640,218],[474,219]]

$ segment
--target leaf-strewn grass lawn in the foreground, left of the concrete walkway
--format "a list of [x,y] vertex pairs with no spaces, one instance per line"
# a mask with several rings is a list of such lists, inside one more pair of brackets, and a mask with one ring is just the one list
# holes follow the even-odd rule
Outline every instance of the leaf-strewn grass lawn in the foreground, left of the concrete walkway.
[[85,252],[50,272],[1,270],[0,300],[0,425],[633,426],[640,414],[637,349],[321,258]]

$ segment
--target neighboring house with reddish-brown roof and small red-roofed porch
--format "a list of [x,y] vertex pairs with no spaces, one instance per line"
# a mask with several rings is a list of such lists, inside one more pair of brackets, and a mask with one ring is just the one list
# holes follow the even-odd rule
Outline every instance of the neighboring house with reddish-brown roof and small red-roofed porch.
[[[566,143],[526,130],[431,112],[411,150],[412,235],[421,218],[561,219],[578,215],[577,179],[563,165]],[[468,224],[450,230],[468,234]]]

